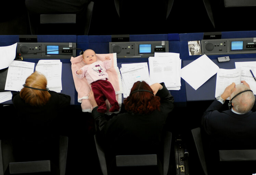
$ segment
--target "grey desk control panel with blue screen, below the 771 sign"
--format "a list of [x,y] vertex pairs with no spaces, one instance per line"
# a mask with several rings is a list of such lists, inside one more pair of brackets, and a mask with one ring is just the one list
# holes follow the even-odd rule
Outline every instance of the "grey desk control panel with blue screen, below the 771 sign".
[[71,58],[76,56],[76,43],[18,42],[16,56],[23,58]]

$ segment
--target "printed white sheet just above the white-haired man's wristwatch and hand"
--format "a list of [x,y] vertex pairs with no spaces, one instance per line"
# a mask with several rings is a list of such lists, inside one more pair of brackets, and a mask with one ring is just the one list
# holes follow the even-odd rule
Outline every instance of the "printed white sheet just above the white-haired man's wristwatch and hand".
[[[220,96],[227,86],[232,84],[240,84],[241,80],[241,68],[235,69],[219,69],[217,72],[216,78],[216,89],[215,89],[215,98]],[[227,98],[229,99],[229,97]]]

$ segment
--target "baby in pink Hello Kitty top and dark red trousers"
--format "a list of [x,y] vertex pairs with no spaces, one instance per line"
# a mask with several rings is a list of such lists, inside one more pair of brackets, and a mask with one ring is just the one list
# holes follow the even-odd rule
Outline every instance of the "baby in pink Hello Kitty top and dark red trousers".
[[116,100],[115,90],[112,84],[107,81],[108,74],[106,70],[111,68],[112,60],[109,56],[105,57],[104,62],[97,60],[95,52],[91,49],[87,49],[83,53],[83,61],[86,65],[76,70],[76,75],[80,79],[86,77],[87,82],[91,84],[91,89],[98,105],[97,111],[101,113],[107,111],[106,99],[108,99],[112,106],[109,111],[118,111],[119,105]]

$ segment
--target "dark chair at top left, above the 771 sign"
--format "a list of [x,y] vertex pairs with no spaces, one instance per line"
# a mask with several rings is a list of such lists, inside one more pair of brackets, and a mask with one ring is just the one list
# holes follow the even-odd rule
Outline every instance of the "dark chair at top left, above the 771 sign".
[[73,1],[69,0],[38,3],[34,0],[25,1],[31,35],[88,35],[93,1],[74,1],[75,4],[70,8]]

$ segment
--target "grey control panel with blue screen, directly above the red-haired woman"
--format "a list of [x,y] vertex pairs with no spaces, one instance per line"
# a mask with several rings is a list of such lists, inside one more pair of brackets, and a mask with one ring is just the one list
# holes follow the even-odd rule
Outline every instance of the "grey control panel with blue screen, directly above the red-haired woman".
[[169,52],[168,41],[141,42],[110,42],[109,52],[116,53],[117,58],[146,58],[154,56],[155,52]]

